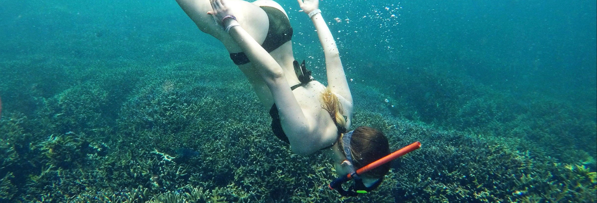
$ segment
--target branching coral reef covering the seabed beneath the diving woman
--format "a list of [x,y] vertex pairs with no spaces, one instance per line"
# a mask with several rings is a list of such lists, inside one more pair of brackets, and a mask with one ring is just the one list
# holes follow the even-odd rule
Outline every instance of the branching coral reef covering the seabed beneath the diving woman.
[[0,202],[597,201],[595,122],[558,102],[510,105],[430,73],[382,91],[355,84],[353,126],[382,130],[392,149],[423,146],[394,161],[379,189],[344,198],[327,188],[327,157],[298,157],[272,136],[235,68],[146,69],[75,73],[84,82],[39,96],[35,114],[4,100]]

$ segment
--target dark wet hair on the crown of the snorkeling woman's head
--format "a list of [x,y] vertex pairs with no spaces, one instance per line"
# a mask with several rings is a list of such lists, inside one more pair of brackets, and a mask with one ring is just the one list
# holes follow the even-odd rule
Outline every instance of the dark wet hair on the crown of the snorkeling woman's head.
[[[341,149],[343,147],[342,142],[338,143],[340,144]],[[350,153],[352,153],[355,169],[358,169],[390,154],[390,146],[386,136],[379,130],[367,126],[360,126],[352,133],[352,139],[350,139]],[[379,167],[362,174],[361,177],[380,179],[384,177],[388,171],[390,171],[390,163],[380,165]]]

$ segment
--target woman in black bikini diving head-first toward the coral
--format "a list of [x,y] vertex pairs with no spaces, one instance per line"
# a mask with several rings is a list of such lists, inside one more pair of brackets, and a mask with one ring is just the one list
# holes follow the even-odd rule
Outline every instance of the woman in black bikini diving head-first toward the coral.
[[[177,0],[202,32],[224,44],[269,110],[273,133],[289,143],[296,154],[324,150],[336,163],[338,176],[346,176],[390,154],[389,144],[383,133],[370,127],[347,131],[353,101],[336,42],[322,18],[319,0],[297,1],[313,21],[324,49],[327,87],[310,76],[304,61],[299,64],[294,59],[293,29],[278,3]],[[355,178],[355,184],[340,193],[356,195],[374,190],[389,169],[389,164],[376,167]]]

